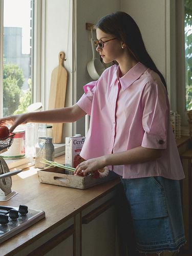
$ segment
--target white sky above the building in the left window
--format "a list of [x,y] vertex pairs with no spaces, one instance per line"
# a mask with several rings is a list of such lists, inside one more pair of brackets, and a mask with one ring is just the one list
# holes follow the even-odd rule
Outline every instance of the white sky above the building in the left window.
[[22,53],[30,53],[30,0],[4,0],[4,27],[22,28]]

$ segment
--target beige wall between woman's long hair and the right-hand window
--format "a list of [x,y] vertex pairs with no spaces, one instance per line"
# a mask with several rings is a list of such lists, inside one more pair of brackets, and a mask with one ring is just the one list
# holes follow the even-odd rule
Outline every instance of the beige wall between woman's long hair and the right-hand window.
[[176,111],[175,0],[121,0],[121,10],[135,19],[148,53],[166,80],[171,109]]

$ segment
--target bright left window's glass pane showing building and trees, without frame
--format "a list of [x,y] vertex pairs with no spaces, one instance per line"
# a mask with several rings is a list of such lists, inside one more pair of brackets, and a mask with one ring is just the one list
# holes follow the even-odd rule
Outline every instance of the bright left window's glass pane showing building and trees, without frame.
[[32,0],[4,1],[3,116],[26,112],[32,102]]

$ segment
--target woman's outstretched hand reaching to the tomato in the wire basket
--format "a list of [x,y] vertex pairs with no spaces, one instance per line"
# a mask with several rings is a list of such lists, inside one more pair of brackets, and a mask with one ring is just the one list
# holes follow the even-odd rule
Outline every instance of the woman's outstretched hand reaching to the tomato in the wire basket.
[[0,118],[0,125],[11,125],[9,132],[12,133],[19,124],[27,123],[28,114],[12,115]]

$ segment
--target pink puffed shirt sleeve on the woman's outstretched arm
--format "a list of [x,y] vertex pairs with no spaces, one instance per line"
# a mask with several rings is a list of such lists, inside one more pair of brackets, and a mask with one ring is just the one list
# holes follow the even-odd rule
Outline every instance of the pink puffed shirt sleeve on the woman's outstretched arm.
[[77,105],[79,106],[79,108],[81,108],[88,115],[91,115],[92,101],[93,101],[93,96],[96,89],[96,83],[97,81],[92,81],[86,84],[83,87],[84,94],[77,101]]

